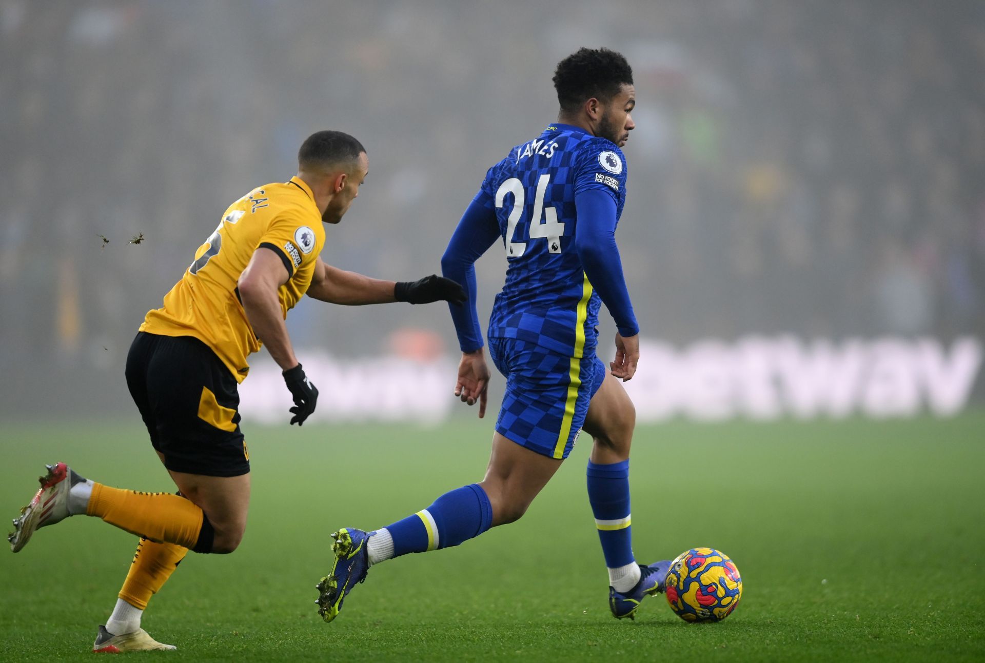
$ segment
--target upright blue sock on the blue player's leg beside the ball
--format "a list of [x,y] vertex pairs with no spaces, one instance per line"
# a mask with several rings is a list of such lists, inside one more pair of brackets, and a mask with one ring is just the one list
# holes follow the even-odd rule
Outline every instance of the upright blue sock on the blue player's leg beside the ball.
[[588,501],[599,528],[599,541],[606,566],[632,564],[632,534],[629,519],[629,460],[611,465],[588,461]]

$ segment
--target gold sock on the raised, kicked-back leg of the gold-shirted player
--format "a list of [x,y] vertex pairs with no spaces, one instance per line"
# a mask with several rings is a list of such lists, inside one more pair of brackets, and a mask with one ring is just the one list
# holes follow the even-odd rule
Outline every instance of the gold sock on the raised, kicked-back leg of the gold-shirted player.
[[93,484],[86,513],[131,534],[182,548],[195,547],[204,516],[202,509],[185,497],[124,491],[102,484]]

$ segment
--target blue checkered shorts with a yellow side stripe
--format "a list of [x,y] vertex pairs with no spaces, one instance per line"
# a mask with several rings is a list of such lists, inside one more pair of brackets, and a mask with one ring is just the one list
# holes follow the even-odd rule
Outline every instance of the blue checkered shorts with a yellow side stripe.
[[506,377],[496,432],[545,456],[567,458],[606,376],[595,348],[578,360],[530,341],[491,338],[490,355]]

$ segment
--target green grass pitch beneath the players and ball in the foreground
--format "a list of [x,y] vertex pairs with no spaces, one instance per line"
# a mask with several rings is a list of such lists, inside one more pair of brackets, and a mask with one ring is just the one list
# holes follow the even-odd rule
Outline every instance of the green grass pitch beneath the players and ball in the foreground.
[[[662,596],[609,615],[585,497],[587,438],[519,522],[380,564],[322,624],[329,533],[376,527],[478,480],[491,422],[251,429],[253,498],[232,556],[190,556],[144,626],[168,660],[981,660],[985,413],[954,420],[642,427],[632,454],[644,561],[719,548],[744,579],[725,622],[689,625]],[[136,426],[0,427],[0,509],[43,462],[173,490]],[[0,554],[0,660],[88,653],[134,537],[77,517]]]

